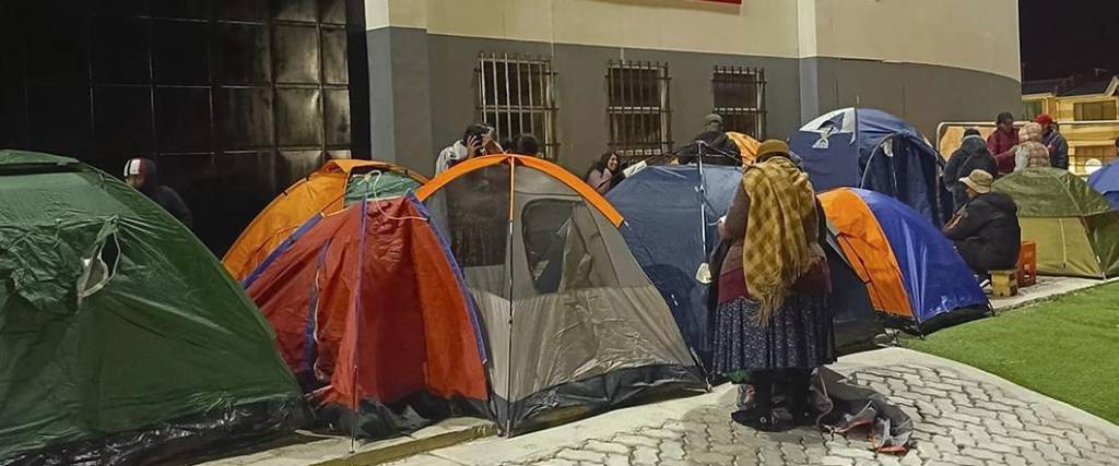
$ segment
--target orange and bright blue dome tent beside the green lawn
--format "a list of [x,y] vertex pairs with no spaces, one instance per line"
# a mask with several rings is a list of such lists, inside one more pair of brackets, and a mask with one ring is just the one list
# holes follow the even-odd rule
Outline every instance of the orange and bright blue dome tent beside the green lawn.
[[838,188],[819,196],[855,273],[887,322],[927,333],[977,318],[987,296],[952,244],[923,216],[874,191]]

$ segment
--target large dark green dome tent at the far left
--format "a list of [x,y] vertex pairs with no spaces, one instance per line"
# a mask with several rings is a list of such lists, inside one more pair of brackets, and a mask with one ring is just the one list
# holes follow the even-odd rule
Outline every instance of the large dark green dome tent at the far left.
[[150,464],[291,430],[267,322],[159,206],[0,151],[0,464]]

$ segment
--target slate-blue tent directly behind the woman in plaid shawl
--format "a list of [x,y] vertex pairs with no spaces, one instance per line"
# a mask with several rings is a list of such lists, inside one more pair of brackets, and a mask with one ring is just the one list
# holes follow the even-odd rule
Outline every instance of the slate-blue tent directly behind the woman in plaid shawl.
[[[606,194],[626,218],[627,246],[664,296],[685,342],[706,362],[707,286],[696,279],[699,266],[718,244],[715,226],[726,215],[742,180],[734,167],[655,165],[629,177]],[[833,296],[836,340],[854,348],[882,330],[865,286],[841,258],[829,254],[831,275],[841,293]],[[834,257],[833,257],[834,256]]]

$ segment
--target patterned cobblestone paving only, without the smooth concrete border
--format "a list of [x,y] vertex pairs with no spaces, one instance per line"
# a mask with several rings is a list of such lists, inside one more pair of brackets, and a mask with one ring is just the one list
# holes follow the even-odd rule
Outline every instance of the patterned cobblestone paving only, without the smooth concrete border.
[[681,419],[542,451],[506,466],[585,465],[1109,465],[1119,437],[1078,424],[1045,403],[958,372],[918,365],[863,369],[854,380],[888,396],[915,421],[916,447],[876,455],[853,434],[810,428],[758,432],[730,419],[734,391]]

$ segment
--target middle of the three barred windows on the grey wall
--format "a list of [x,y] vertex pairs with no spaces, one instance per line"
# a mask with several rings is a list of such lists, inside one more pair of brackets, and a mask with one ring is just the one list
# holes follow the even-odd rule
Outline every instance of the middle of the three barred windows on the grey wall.
[[606,68],[610,149],[623,156],[671,150],[668,64],[610,61]]

